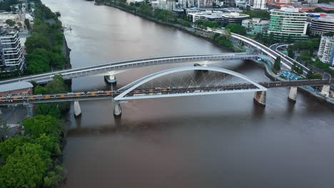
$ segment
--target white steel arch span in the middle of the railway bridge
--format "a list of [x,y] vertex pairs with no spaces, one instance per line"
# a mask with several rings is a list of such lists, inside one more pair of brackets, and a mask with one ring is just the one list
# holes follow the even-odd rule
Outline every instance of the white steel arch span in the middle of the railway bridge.
[[[132,96],[126,96],[129,93],[133,94],[133,90],[138,88],[139,86],[148,83],[149,81],[159,78],[163,75],[168,75],[171,73],[178,73],[182,71],[214,71],[219,73],[226,73],[228,75],[233,75],[238,78],[241,78],[242,80],[245,80],[247,83],[246,85],[243,85],[243,87],[239,89],[230,88],[225,89],[225,85],[216,86],[214,87],[215,90],[212,90],[212,88],[204,88],[200,92],[183,92],[183,93],[167,93],[167,94],[159,94],[156,93],[156,95],[152,95],[152,93],[142,93],[141,95],[132,95]],[[196,88],[195,88],[196,89]],[[245,92],[255,92],[255,91],[266,91],[267,88],[263,87],[263,85],[260,85],[255,80],[252,80],[251,78],[246,77],[246,75],[242,75],[241,73],[236,73],[234,71],[230,71],[225,68],[216,68],[216,67],[209,67],[209,66],[187,66],[187,67],[180,67],[180,68],[172,68],[166,71],[161,71],[158,73],[153,73],[151,75],[147,75],[141,79],[138,79],[134,81],[133,83],[129,83],[128,85],[124,86],[123,88],[119,89],[118,91],[123,91],[120,95],[117,95],[116,98],[114,98],[115,101],[121,101],[121,100],[134,100],[134,99],[143,99],[143,98],[166,98],[166,97],[180,97],[180,96],[188,96],[188,95],[213,95],[213,94],[221,94],[221,93],[245,93]]]

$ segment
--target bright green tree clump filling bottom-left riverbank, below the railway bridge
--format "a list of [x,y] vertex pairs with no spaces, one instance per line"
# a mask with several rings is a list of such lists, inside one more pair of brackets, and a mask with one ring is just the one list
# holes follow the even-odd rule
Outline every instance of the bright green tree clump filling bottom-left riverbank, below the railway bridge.
[[[36,125],[31,122],[36,122]],[[41,125],[41,123],[45,125]],[[59,135],[46,125],[59,126],[51,116],[37,116],[24,121],[32,137],[11,137],[0,143],[4,165],[0,167],[0,187],[52,187],[63,179],[64,167],[52,164],[52,157],[61,154]],[[40,129],[41,128],[41,129]],[[40,130],[49,132],[41,133]],[[36,137],[39,135],[39,137]]]

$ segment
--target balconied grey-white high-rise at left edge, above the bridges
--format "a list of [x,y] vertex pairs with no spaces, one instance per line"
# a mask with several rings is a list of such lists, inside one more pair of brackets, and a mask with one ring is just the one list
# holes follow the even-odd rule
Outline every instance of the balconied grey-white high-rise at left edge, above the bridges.
[[25,59],[18,31],[6,30],[0,36],[0,73],[24,71]]

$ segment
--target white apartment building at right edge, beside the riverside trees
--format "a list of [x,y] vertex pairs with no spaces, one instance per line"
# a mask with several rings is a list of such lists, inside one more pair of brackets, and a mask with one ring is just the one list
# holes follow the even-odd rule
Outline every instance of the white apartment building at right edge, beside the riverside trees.
[[323,63],[329,63],[334,66],[334,37],[322,36],[318,51],[318,57]]

